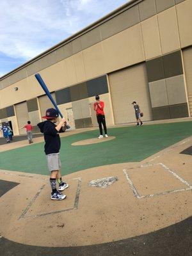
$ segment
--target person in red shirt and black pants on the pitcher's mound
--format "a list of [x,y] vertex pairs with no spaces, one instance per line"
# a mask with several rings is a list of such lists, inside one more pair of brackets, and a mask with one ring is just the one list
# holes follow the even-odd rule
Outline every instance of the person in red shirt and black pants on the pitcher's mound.
[[100,131],[100,136],[98,138],[99,139],[103,138],[102,125],[104,127],[105,136],[106,136],[106,138],[108,138],[108,132],[107,132],[107,127],[106,127],[106,118],[105,118],[105,114],[104,114],[104,102],[100,101],[99,95],[95,96],[95,100],[97,100],[97,101],[94,103],[94,110],[97,115],[97,122],[99,124],[99,131]]

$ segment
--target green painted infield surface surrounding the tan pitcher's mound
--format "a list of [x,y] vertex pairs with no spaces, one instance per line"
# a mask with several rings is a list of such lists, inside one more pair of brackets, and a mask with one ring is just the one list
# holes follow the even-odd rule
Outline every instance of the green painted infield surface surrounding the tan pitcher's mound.
[[[192,122],[109,129],[115,140],[84,146],[71,143],[98,136],[98,131],[61,138],[62,173],[68,174],[106,164],[141,161],[192,134]],[[0,153],[0,169],[47,174],[44,143]]]

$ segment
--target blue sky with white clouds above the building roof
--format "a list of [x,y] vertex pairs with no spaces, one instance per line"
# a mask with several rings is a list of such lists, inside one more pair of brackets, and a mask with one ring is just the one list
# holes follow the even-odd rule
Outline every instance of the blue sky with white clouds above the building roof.
[[129,0],[1,0],[0,77]]

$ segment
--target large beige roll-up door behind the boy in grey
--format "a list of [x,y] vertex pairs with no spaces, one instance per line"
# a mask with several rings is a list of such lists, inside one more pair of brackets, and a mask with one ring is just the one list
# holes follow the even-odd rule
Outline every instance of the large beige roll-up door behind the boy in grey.
[[115,124],[135,122],[134,100],[144,113],[143,120],[152,120],[146,73],[145,64],[140,64],[109,74]]

